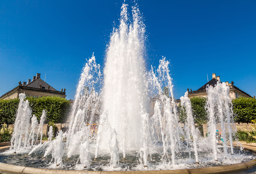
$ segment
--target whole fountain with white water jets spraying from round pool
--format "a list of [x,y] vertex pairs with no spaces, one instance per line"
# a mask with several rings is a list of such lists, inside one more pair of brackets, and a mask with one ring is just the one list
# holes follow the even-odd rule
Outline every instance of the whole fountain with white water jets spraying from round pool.
[[[218,167],[201,169],[210,166],[243,164],[225,166],[232,171],[255,165],[255,162],[242,163],[254,159],[253,154],[233,148],[229,87],[225,83],[207,87],[209,137],[201,137],[195,128],[188,92],[180,98],[186,110],[186,123],[179,123],[169,61],[163,57],[157,69],[151,66],[147,71],[145,25],[137,5],[132,7],[131,21],[128,5],[123,4],[120,25],[111,34],[104,70],[94,55],[85,63],[68,131],[59,131],[52,140],[50,127],[49,141],[42,143],[42,125],[47,113],[43,111],[38,126],[28,100],[24,100],[25,94],[20,94],[12,145],[3,155],[16,159],[24,158],[24,154],[28,154],[26,158],[35,155],[38,159],[39,155],[43,157],[39,165],[22,165],[88,172],[172,169],[168,172],[202,173],[223,171]],[[215,136],[217,121],[221,123],[223,144],[218,144]],[[94,132],[93,124],[98,126]],[[40,143],[36,144],[39,138]],[[3,165],[0,163],[0,169]],[[175,170],[181,168],[184,170]],[[32,169],[23,167],[24,170]]]

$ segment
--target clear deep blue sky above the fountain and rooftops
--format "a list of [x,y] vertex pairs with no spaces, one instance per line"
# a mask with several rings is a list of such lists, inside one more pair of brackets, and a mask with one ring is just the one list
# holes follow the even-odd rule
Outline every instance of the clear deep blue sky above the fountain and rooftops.
[[[85,59],[104,66],[123,0],[0,0],[0,96],[41,73],[73,99]],[[134,4],[126,0],[129,6]],[[171,63],[175,98],[212,73],[256,95],[255,0],[138,0],[148,66]]]

